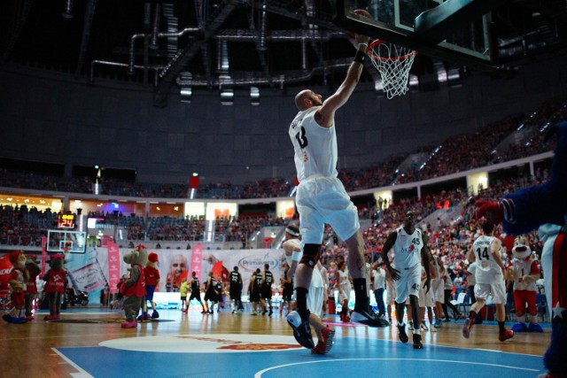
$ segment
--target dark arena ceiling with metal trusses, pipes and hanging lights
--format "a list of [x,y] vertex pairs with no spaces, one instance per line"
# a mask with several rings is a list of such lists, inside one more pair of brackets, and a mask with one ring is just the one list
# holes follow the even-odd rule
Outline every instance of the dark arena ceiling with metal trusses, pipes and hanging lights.
[[[157,106],[179,87],[332,86],[353,42],[331,9],[329,0],[2,0],[0,64],[133,83],[154,90]],[[492,20],[502,65],[565,53],[565,0],[507,1]],[[412,73],[439,65],[448,63],[418,56]],[[379,80],[373,68],[362,78]]]

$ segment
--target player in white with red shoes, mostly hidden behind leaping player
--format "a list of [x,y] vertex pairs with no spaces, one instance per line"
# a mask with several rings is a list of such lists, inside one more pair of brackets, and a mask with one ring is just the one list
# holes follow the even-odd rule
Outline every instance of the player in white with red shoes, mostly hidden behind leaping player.
[[[297,225],[291,224],[285,228],[285,242],[283,242],[282,247],[283,251],[285,251],[285,261],[290,266],[288,274],[290,277],[293,277],[303,255],[301,241],[299,240],[299,227]],[[311,284],[309,285],[309,296],[307,297],[307,308],[311,312],[309,314],[309,324],[315,329],[315,335],[318,340],[317,345],[311,350],[314,354],[328,353],[333,346],[335,337],[335,330],[325,326],[319,318],[325,293],[326,289],[321,271],[318,268],[314,269]]]

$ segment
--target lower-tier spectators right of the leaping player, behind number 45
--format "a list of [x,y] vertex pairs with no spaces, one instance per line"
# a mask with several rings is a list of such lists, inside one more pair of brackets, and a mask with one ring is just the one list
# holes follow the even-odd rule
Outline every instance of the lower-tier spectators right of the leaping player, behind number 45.
[[[500,181],[490,189],[484,189],[478,194],[478,197],[486,199],[497,199],[503,195],[516,191],[517,189],[536,185],[546,180],[542,175],[532,178],[517,178]],[[427,223],[424,220],[431,212],[445,208],[443,204],[450,204],[450,207],[462,209],[459,215],[448,221],[438,220],[435,224]],[[476,219],[476,207],[472,205],[470,197],[468,197],[464,189],[455,189],[453,191],[445,191],[438,195],[423,197],[420,200],[404,200],[398,204],[378,212],[376,220],[372,221],[369,228],[362,231],[365,253],[374,260],[380,260],[380,252],[388,235],[393,229],[400,227],[404,214],[408,210],[416,213],[417,227],[422,228],[424,233],[429,236],[429,247],[434,255],[439,255],[444,265],[447,266],[451,279],[454,281],[454,296],[460,292],[466,291],[467,276],[464,274],[468,266],[467,252],[470,245],[478,237],[480,224]],[[501,226],[497,226],[495,235],[504,239],[507,235],[503,234]],[[541,252],[542,243],[540,243],[537,232],[526,235],[532,246],[532,251]],[[509,261],[510,251],[504,255],[505,263]],[[332,228],[325,228],[325,239],[322,243],[321,258],[322,263],[328,269],[334,269],[335,261],[338,255],[348,256],[347,248],[344,243],[338,241]]]

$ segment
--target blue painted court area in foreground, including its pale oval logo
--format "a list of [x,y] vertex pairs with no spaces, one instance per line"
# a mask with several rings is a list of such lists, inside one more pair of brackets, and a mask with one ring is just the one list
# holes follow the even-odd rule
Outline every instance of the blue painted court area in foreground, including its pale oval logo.
[[337,338],[330,354],[315,356],[291,336],[147,336],[98,347],[58,348],[87,377],[530,377],[542,358],[524,354],[411,343]]

